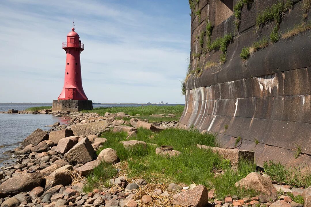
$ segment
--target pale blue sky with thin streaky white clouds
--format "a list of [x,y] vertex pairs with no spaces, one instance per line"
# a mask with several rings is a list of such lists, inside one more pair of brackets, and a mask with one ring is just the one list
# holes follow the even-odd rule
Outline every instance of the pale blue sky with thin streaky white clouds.
[[73,19],[90,100],[184,103],[189,12],[187,0],[1,0],[0,103],[58,98]]

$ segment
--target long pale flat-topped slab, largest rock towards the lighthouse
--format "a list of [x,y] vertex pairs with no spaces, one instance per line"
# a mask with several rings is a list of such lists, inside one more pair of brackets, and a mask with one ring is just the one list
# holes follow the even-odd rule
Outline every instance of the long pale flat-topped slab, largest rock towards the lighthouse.
[[74,135],[79,137],[86,137],[88,135],[103,132],[105,128],[108,127],[108,122],[106,120],[95,121],[86,124],[71,125],[70,127]]

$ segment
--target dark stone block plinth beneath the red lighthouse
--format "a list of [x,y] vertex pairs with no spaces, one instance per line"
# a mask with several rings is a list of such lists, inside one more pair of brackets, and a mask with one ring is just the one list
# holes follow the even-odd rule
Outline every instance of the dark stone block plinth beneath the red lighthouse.
[[53,100],[52,111],[81,111],[93,109],[89,100]]

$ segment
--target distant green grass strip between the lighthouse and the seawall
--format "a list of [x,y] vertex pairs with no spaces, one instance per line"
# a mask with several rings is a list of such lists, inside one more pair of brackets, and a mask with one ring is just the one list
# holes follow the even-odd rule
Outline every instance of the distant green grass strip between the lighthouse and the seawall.
[[[149,119],[149,121],[161,121],[161,120],[179,120],[179,117],[182,115],[184,109],[184,105],[176,105],[176,106],[127,106],[127,107],[99,107],[94,108],[93,110],[86,110],[82,112],[91,112],[98,113],[100,115],[105,115],[106,112],[109,113],[118,113],[124,112],[130,116],[135,116],[136,114],[140,114],[142,119]],[[176,117],[150,117],[151,114],[174,114]],[[126,119],[126,118],[125,118]]]

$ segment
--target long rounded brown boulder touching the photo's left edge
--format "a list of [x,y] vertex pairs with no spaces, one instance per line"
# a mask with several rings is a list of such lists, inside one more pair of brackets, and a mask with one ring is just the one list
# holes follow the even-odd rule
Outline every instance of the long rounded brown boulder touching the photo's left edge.
[[20,192],[29,192],[41,185],[42,176],[39,172],[22,173],[12,177],[0,185],[0,195],[15,195]]

